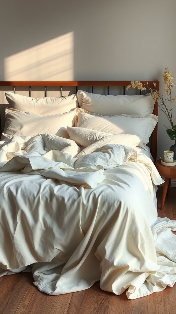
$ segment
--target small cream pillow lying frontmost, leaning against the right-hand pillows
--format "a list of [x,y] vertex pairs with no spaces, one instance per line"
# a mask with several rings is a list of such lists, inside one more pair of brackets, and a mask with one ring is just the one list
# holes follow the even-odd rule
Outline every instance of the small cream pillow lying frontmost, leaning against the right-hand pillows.
[[[91,151],[94,148],[100,148],[106,143],[126,145],[135,148],[142,140],[140,136],[132,134],[110,134],[101,131],[89,130],[83,127],[67,127],[70,139],[75,141],[82,147],[92,145]],[[92,150],[93,149],[93,150]]]

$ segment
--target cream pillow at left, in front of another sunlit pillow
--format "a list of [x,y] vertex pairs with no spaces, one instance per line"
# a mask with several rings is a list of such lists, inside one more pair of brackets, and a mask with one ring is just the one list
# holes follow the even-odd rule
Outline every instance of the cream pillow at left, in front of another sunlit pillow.
[[50,133],[69,138],[66,128],[67,126],[74,126],[75,113],[76,109],[62,114],[41,116],[34,112],[6,108],[6,122],[1,140],[16,135],[34,137],[40,133]]

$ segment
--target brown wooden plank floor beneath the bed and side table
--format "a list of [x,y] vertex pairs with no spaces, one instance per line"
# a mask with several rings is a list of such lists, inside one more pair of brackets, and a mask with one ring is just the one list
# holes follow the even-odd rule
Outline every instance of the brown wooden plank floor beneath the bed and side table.
[[[158,188],[158,207],[162,187]],[[159,217],[176,219],[176,188],[171,188]],[[31,273],[0,278],[0,314],[175,314],[176,284],[163,292],[128,300],[125,292],[114,295],[102,291],[99,283],[88,290],[50,296],[33,285]]]

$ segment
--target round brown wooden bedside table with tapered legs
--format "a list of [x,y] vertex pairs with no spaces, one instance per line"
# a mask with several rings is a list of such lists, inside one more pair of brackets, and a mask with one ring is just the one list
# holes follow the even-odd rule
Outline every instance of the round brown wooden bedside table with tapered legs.
[[156,161],[155,166],[160,176],[165,177],[160,207],[160,209],[163,209],[166,195],[169,195],[171,179],[176,179],[176,166],[164,166],[161,164],[161,159]]

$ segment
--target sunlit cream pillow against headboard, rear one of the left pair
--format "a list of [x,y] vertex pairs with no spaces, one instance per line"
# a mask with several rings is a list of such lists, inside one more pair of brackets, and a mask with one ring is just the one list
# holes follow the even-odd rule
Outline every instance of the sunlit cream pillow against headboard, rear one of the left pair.
[[60,114],[74,110],[78,106],[77,95],[63,97],[27,97],[5,92],[9,108],[39,113],[42,116]]

